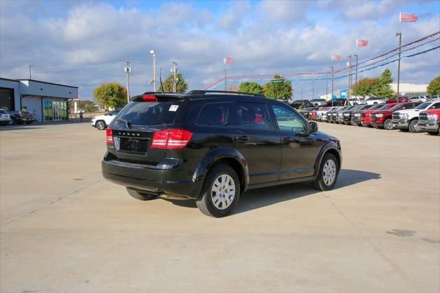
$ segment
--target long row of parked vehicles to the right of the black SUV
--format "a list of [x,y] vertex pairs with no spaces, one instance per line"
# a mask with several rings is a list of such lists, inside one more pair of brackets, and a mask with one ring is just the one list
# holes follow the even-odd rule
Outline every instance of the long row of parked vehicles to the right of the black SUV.
[[309,120],[437,135],[440,126],[440,99],[427,102],[324,107],[302,113]]

